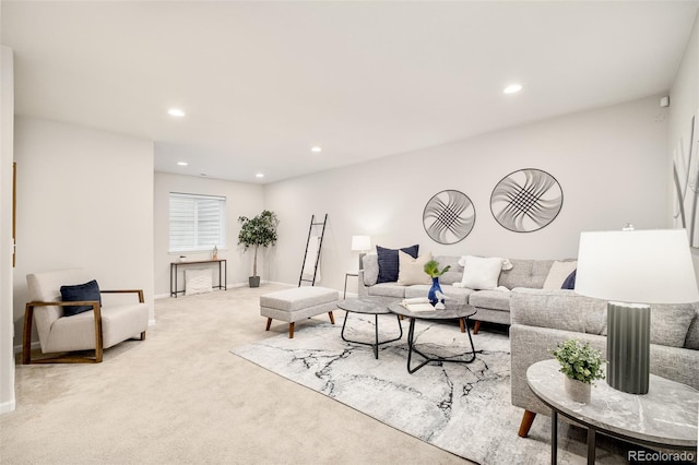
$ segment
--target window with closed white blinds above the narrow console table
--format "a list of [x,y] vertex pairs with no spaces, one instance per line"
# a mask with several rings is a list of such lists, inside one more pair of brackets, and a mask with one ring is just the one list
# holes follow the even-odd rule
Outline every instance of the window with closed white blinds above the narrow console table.
[[226,198],[170,192],[170,252],[226,247]]

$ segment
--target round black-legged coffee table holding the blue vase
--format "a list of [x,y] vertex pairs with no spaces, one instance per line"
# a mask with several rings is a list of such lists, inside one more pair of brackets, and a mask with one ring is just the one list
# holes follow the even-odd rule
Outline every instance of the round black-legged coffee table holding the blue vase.
[[[415,371],[423,368],[425,365],[430,361],[436,361],[438,363],[450,361],[457,363],[471,363],[476,359],[476,354],[483,350],[476,350],[473,346],[473,338],[471,337],[471,330],[469,329],[469,318],[476,314],[476,308],[470,306],[467,303],[457,305],[457,306],[447,306],[443,310],[431,310],[431,311],[411,311],[403,307],[401,302],[393,302],[389,306],[389,310],[395,314],[407,317],[411,319],[411,324],[407,330],[407,372],[414,373]],[[416,320],[459,320],[461,325],[461,331],[469,335],[469,342],[471,343],[471,351],[466,351],[463,355],[467,358],[464,359],[451,359],[451,358],[441,358],[441,357],[430,357],[417,348],[415,348],[415,321]],[[416,366],[415,368],[411,368],[411,358],[413,353],[420,355],[425,361]]]

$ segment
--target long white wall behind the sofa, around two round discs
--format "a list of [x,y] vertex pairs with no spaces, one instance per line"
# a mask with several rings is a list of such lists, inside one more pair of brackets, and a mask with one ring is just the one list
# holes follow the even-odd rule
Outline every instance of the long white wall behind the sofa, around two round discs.
[[[659,97],[269,184],[265,207],[282,219],[269,278],[297,282],[311,213],[329,214],[320,284],[336,289],[357,267],[350,251],[357,234],[391,248],[419,243],[420,251],[441,254],[544,259],[576,257],[581,230],[619,229],[625,222],[663,227],[670,179]],[[490,213],[493,188],[521,168],[548,171],[564,190],[560,214],[535,233],[511,233]],[[464,192],[476,210],[473,231],[452,246],[434,242],[422,224],[425,203],[445,189]]]

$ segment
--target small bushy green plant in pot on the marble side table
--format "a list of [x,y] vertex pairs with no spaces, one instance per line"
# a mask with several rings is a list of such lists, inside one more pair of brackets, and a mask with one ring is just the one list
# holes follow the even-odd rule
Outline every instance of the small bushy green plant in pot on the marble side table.
[[603,380],[602,353],[576,338],[558,343],[550,350],[560,363],[560,372],[566,374],[566,392],[572,401],[590,402],[592,381]]

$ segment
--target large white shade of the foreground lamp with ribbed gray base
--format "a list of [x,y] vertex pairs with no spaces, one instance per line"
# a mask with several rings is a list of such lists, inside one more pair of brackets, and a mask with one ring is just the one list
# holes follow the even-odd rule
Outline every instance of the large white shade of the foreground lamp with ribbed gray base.
[[576,293],[637,303],[699,301],[684,229],[580,235]]

